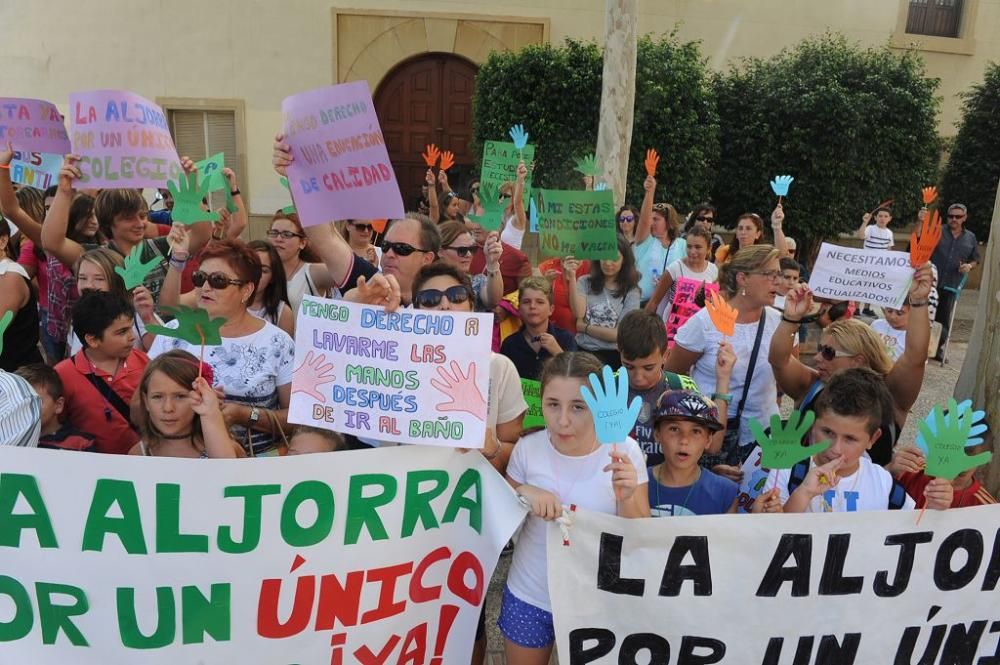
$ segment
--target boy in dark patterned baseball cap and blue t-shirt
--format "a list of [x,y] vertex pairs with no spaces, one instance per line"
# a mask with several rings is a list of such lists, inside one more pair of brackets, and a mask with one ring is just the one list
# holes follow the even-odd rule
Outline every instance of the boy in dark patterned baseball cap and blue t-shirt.
[[693,390],[667,390],[656,402],[653,428],[663,462],[647,469],[652,516],[736,512],[736,483],[698,464],[722,429],[715,404]]

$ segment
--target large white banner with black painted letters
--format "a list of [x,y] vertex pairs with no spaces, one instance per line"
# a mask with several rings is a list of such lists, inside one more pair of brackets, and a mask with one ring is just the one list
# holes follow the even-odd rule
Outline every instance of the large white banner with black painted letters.
[[548,531],[560,662],[1000,662],[1000,506],[916,517],[578,510]]

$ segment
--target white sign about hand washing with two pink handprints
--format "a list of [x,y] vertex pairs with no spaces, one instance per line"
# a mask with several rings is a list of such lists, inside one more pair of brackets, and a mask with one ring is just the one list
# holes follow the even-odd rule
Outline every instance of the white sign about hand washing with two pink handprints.
[[289,422],[395,443],[482,448],[493,315],[305,296]]

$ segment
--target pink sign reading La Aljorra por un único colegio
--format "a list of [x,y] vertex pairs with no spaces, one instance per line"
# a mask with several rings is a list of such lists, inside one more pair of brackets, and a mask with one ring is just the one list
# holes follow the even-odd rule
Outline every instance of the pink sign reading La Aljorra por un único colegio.
[[85,187],[166,187],[181,161],[158,105],[126,90],[69,96],[70,136]]

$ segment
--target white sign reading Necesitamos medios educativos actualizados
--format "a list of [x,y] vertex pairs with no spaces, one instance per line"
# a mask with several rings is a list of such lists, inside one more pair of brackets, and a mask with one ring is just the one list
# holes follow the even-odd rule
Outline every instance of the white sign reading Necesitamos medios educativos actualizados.
[[823,243],[809,277],[813,295],[899,309],[913,280],[907,252]]

